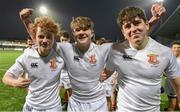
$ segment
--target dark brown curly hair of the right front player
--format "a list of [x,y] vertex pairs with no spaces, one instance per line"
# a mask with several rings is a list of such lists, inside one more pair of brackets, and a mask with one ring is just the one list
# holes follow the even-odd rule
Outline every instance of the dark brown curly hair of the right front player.
[[139,7],[126,7],[119,12],[117,24],[120,28],[122,28],[124,22],[133,22],[136,17],[147,21],[146,14],[143,9]]

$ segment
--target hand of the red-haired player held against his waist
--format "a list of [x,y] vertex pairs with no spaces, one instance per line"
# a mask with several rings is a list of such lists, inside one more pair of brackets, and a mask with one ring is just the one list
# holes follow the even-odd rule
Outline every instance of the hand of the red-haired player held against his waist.
[[29,84],[31,83],[31,81],[29,79],[26,79],[24,77],[24,74],[21,74],[18,79],[14,82],[14,86],[15,87],[20,87],[20,88],[26,88],[29,86]]

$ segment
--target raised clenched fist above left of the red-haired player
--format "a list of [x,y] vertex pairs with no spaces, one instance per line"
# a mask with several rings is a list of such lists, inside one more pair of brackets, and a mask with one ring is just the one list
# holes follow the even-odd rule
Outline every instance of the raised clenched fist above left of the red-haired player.
[[33,12],[33,9],[30,9],[30,8],[22,9],[19,12],[20,18],[21,19],[30,18],[30,16],[32,15],[32,12]]

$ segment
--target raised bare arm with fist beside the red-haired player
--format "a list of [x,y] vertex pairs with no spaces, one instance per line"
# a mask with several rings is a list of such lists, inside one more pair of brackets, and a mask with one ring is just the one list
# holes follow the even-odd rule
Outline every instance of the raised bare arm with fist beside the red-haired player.
[[33,24],[32,20],[31,20],[32,12],[33,12],[32,9],[25,8],[25,9],[22,9],[19,12],[19,16],[21,18],[21,21],[25,25],[25,28],[26,28],[28,34],[30,35],[32,40],[35,42],[36,33],[35,33],[35,29],[34,29],[34,24]]

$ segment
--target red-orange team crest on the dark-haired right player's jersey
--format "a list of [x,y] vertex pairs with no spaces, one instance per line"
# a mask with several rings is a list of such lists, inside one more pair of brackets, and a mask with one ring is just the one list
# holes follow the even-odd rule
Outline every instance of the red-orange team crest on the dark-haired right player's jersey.
[[157,54],[149,54],[147,55],[148,56],[148,62],[153,64],[153,65],[156,65],[156,64],[159,64],[159,60],[158,60],[158,55]]

